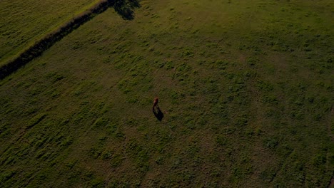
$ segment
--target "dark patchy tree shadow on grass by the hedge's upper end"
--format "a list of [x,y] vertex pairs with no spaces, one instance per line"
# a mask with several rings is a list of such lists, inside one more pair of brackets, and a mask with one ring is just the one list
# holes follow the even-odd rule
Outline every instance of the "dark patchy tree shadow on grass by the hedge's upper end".
[[116,13],[125,20],[134,19],[134,9],[141,7],[138,0],[111,0],[109,1]]

